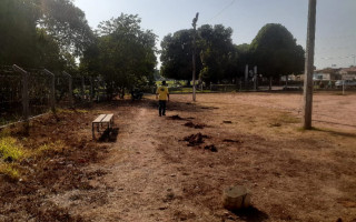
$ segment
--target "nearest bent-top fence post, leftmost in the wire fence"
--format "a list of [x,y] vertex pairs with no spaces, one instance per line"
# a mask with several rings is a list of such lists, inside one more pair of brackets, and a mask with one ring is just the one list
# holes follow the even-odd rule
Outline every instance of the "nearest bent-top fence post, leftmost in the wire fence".
[[29,117],[30,117],[30,99],[29,99],[29,73],[20,67],[13,64],[12,69],[22,74],[22,115],[24,120],[26,132],[29,132]]

